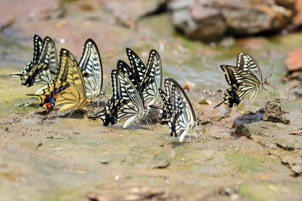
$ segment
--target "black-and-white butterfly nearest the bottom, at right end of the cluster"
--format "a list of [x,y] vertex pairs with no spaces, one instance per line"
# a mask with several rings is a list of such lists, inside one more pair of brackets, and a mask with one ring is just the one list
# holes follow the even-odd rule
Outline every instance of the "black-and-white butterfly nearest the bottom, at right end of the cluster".
[[178,136],[179,141],[182,142],[188,131],[196,128],[200,123],[196,121],[191,102],[182,87],[172,78],[165,79],[164,87],[165,92],[159,89],[164,105],[150,105],[150,108],[159,111],[159,120],[169,127],[170,135]]

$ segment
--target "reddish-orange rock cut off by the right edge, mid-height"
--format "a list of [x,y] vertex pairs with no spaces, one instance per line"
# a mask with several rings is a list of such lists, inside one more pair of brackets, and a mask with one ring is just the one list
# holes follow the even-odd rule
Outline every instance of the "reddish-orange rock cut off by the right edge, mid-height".
[[288,71],[302,69],[302,48],[288,52],[288,58],[284,61]]

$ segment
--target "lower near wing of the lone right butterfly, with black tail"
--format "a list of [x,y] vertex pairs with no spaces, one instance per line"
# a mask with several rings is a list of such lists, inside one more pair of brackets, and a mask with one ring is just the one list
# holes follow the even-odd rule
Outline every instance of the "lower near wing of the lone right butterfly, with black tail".
[[262,90],[264,81],[259,81],[253,74],[235,66],[221,65],[220,68],[226,72],[226,81],[230,87],[224,93],[223,101],[214,108],[221,104],[227,104],[230,108],[238,105],[243,96],[249,92],[252,92],[249,97],[249,105],[251,105],[257,90]]

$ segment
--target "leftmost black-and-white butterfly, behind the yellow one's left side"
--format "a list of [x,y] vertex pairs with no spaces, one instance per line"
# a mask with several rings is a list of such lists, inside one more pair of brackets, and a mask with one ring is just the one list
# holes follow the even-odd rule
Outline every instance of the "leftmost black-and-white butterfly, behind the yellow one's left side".
[[20,77],[21,84],[27,87],[49,83],[54,78],[57,66],[56,46],[50,37],[46,36],[42,41],[39,36],[34,35],[33,43],[32,61],[25,65],[21,73],[11,74],[13,77]]

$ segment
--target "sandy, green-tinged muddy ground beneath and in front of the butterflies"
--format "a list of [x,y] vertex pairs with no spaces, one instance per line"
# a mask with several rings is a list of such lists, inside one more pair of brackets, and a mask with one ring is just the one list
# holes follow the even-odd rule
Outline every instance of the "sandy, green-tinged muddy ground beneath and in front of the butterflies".
[[[1,86],[18,87],[19,80],[10,73],[1,72]],[[297,161],[300,147],[281,147],[278,136],[267,131],[249,132],[256,137],[236,135],[233,120],[242,118],[236,109],[213,110],[215,104],[193,102],[197,116],[202,111],[204,115],[214,111],[214,115],[208,117],[211,122],[205,121],[199,139],[179,143],[159,123],[153,130],[142,120],[135,128],[123,129],[124,121],[104,127],[101,121],[87,119],[85,110],[65,118],[69,112],[39,109],[35,99],[23,99],[28,88],[12,93],[6,87],[0,89],[7,98],[2,99],[0,117],[0,200],[302,198],[302,180],[295,168],[300,160],[292,164],[288,158]],[[299,112],[290,117],[296,123],[290,124],[291,130],[299,127]],[[299,135],[287,135],[284,127],[272,131],[286,136],[287,143],[302,140]]]

